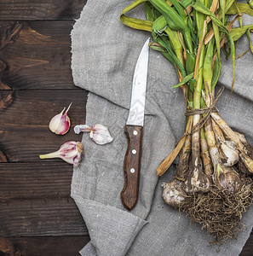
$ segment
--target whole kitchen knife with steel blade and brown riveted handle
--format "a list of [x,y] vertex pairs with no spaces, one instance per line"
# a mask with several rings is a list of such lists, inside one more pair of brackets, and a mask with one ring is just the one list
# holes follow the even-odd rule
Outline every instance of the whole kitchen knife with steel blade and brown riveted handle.
[[124,188],[121,192],[121,201],[128,210],[135,207],[139,194],[149,41],[150,38],[143,45],[135,65],[129,117],[124,127],[124,132],[128,139],[128,147],[124,157]]

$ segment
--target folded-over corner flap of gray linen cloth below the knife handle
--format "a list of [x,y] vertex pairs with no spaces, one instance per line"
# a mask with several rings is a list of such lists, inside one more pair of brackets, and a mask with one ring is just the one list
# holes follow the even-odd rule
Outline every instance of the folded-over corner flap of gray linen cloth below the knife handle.
[[135,236],[147,224],[146,220],[130,212],[99,201],[84,199],[79,195],[72,195],[72,198],[83,216],[90,236],[91,244],[81,250],[81,255],[124,256]]

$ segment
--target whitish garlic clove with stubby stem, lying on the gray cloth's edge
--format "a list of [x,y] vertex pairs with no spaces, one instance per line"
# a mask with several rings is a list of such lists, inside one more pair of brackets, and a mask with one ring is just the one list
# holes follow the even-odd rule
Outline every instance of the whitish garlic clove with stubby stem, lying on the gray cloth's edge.
[[74,131],[77,134],[79,134],[81,131],[89,131],[89,137],[99,145],[112,143],[113,140],[107,127],[101,124],[93,125],[91,128],[89,125],[76,125],[74,127]]

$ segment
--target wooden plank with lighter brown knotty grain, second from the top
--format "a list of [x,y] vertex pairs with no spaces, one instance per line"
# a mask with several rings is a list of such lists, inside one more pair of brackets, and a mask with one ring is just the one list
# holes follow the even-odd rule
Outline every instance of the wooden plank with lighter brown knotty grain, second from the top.
[[72,25],[63,20],[0,21],[0,89],[76,89]]

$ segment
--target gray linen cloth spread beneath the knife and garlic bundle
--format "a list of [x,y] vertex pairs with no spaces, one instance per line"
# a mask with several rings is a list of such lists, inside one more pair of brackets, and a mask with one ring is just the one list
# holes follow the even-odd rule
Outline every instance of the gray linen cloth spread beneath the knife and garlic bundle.
[[[212,240],[200,225],[190,224],[184,213],[164,204],[161,183],[175,173],[175,165],[158,179],[156,168],[170,154],[183,134],[185,104],[174,67],[156,51],[150,51],[147,78],[147,105],[141,157],[140,195],[128,212],[122,206],[124,154],[127,139],[124,125],[128,117],[135,63],[150,36],[119,21],[132,0],[89,0],[72,30],[72,75],[74,83],[89,90],[86,124],[106,125],[112,143],[97,145],[83,134],[84,159],[74,168],[71,195],[89,229],[90,241],[84,255],[238,255],[253,225],[253,208],[244,214],[247,229],[237,240],[210,247]],[[145,17],[140,6],[131,16]],[[253,23],[253,20],[248,20]],[[237,54],[249,48],[246,38]],[[253,142],[252,55],[236,61],[233,94],[231,61],[222,63],[220,84],[226,86],[218,108],[221,116]],[[219,89],[219,85],[217,86]],[[82,114],[82,113],[80,113]]]

